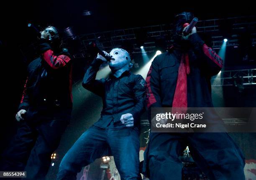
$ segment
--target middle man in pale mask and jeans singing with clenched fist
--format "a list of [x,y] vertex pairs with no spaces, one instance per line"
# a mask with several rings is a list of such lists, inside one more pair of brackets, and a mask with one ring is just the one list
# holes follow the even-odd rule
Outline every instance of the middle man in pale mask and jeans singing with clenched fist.
[[139,173],[139,125],[144,109],[145,80],[131,74],[129,53],[114,48],[109,66],[112,74],[96,80],[100,65],[107,61],[99,55],[87,69],[83,86],[102,97],[100,119],[85,131],[61,161],[58,180],[75,180],[82,167],[103,155],[113,155],[121,180],[141,179]]

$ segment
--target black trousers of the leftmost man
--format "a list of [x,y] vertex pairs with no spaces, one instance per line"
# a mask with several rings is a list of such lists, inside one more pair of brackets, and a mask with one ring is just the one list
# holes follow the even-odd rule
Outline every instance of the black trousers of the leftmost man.
[[20,122],[10,147],[3,153],[1,171],[26,171],[26,180],[44,180],[51,154],[59,146],[67,120],[46,119]]

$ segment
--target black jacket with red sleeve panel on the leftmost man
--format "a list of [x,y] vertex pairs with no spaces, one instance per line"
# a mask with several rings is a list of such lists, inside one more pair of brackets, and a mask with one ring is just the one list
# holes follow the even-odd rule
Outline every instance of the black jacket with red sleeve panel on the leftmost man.
[[18,109],[27,111],[28,120],[66,116],[72,109],[70,55],[67,52],[55,54],[44,39],[40,40],[38,51],[41,56],[28,65],[27,81]]

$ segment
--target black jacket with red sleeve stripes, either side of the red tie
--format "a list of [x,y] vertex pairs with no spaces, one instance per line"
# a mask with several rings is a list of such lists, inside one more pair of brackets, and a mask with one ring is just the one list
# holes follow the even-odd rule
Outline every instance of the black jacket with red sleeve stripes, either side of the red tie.
[[147,107],[172,107],[182,53],[189,55],[188,107],[212,107],[211,76],[218,74],[223,60],[206,46],[197,33],[189,36],[187,51],[174,50],[156,56],[146,78]]

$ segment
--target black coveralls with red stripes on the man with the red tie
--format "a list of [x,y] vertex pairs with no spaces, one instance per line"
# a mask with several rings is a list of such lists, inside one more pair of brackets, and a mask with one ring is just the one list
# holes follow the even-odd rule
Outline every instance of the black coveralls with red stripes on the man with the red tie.
[[[217,74],[222,59],[197,35],[189,36],[190,74],[187,75],[187,106],[212,107],[211,76]],[[156,56],[146,79],[147,106],[172,107],[182,49]],[[181,180],[179,156],[189,146],[197,165],[211,180],[243,180],[244,157],[226,133],[151,132],[144,153],[144,172],[150,180]]]

